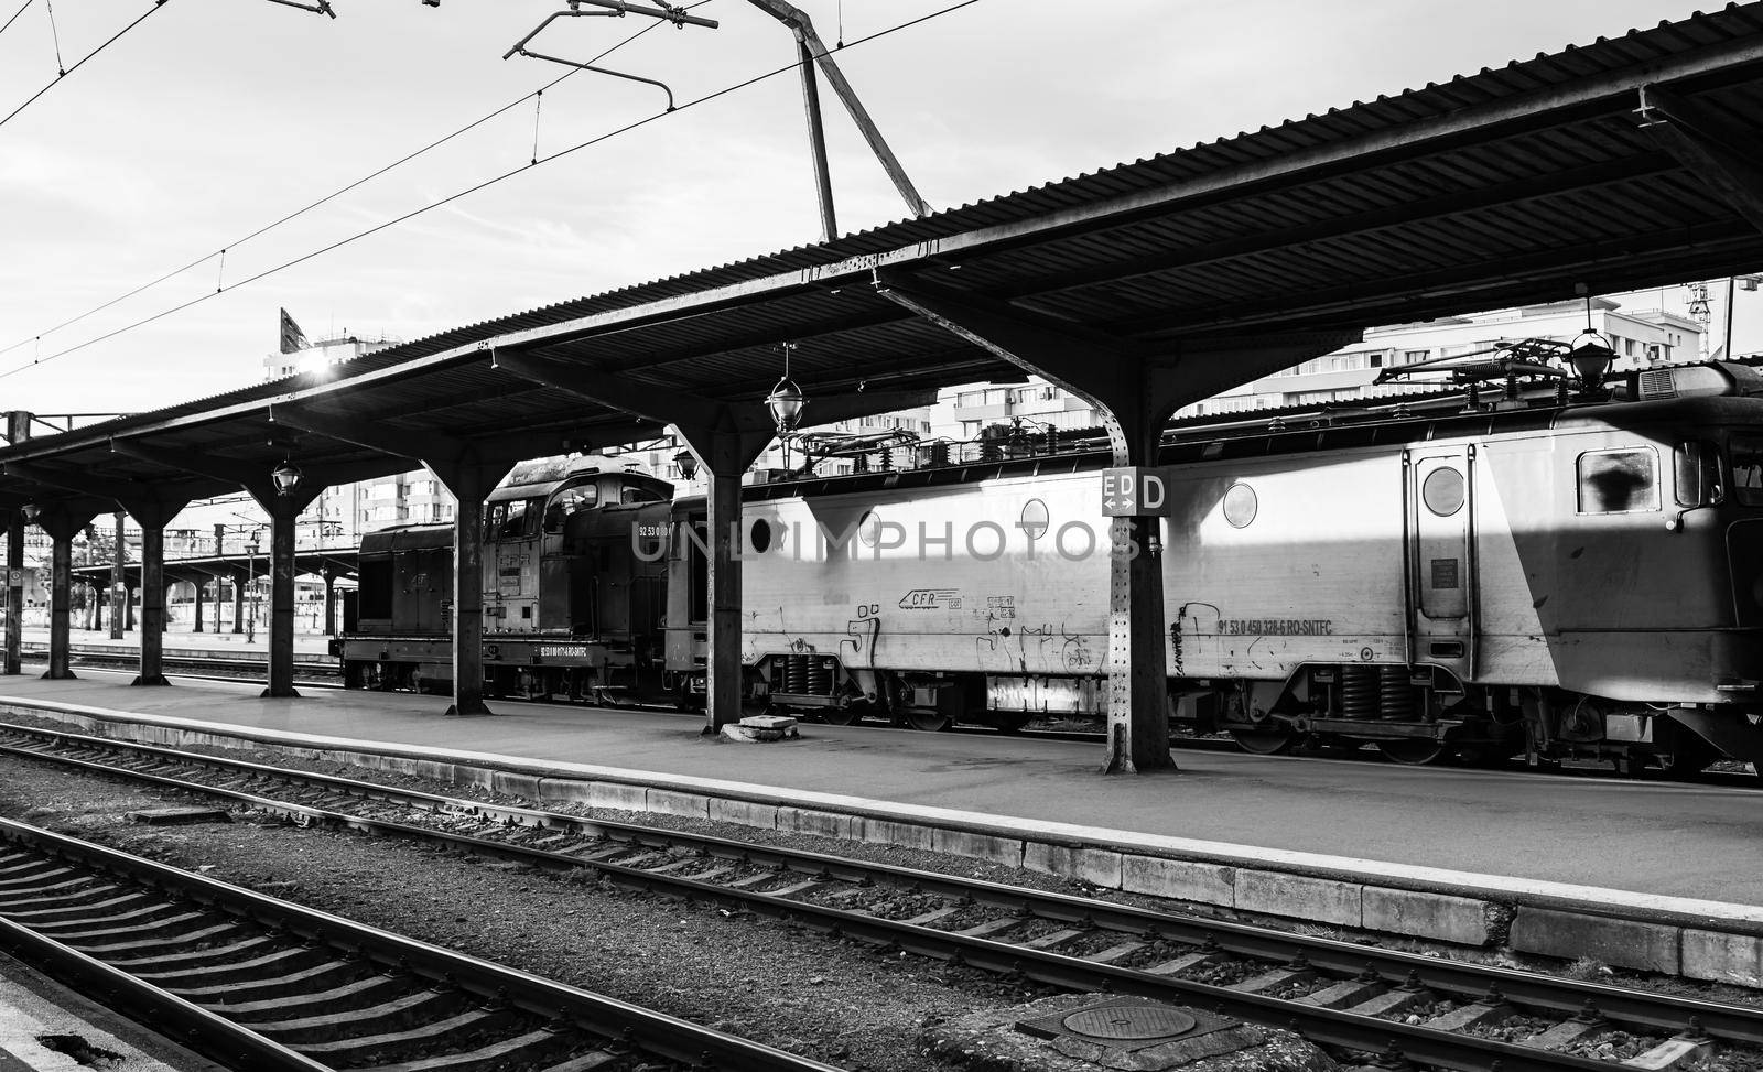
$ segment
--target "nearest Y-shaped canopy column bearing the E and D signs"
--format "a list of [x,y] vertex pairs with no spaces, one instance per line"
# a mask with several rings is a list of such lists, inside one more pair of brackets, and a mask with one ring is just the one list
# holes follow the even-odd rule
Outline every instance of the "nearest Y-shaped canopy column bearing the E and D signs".
[[[883,279],[876,291],[926,321],[1042,376],[1095,406],[1114,465],[1155,465],[1174,411],[1234,383],[1287,368],[1358,333],[1264,337],[1157,349],[922,279]],[[1097,487],[1100,504],[1100,487]],[[1098,508],[1100,513],[1100,508]],[[1109,522],[1107,753],[1104,774],[1174,770],[1169,755],[1169,622],[1164,612],[1164,522]]]

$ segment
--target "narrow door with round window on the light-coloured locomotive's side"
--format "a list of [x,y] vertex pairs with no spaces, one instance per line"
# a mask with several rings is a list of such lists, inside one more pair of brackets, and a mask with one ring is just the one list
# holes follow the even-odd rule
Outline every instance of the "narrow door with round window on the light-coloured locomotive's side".
[[1410,661],[1470,677],[1476,642],[1476,448],[1409,451]]

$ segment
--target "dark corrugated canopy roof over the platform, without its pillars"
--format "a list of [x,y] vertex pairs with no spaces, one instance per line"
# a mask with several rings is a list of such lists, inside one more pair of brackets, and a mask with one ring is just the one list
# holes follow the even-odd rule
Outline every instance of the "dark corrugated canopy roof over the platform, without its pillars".
[[[213,495],[240,487],[217,464],[266,474],[284,455],[340,483],[425,453],[631,443],[663,430],[656,400],[762,413],[783,342],[815,400],[1019,377],[885,300],[889,280],[1204,349],[1573,298],[1581,282],[1615,293],[1749,272],[1763,263],[1758,116],[1763,4],[1731,5],[5,446],[0,506]],[[548,361],[605,400],[541,386],[502,356]]]

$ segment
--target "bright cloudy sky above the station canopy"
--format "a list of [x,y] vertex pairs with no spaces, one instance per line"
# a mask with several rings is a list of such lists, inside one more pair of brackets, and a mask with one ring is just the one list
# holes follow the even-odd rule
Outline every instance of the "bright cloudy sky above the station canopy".
[[[841,18],[853,42],[952,2],[799,5],[830,44]],[[0,21],[21,4],[0,0]],[[800,88],[785,72],[32,367],[532,157],[529,100],[234,245],[564,72],[501,58],[561,0],[333,5],[337,19],[270,0],[166,0],[0,125],[0,347],[30,340],[0,354],[0,409],[157,409],[256,383],[277,346],[277,307],[310,337],[416,339],[820,238]],[[63,60],[150,7],[62,0]],[[1689,0],[978,0],[848,46],[837,60],[919,190],[948,208],[1692,9]],[[55,78],[46,12],[48,0],[32,0],[0,34],[0,116]],[[790,34],[744,0],[710,0],[695,14],[721,28],[658,26],[605,63],[668,83],[684,104],[793,62]],[[532,48],[587,60],[649,23],[559,19]],[[841,229],[899,219],[894,189],[822,92]],[[661,106],[652,86],[577,74],[545,93],[539,153]],[[210,257],[49,331],[229,245],[224,273]],[[1682,291],[1666,298],[1682,309]],[[1763,293],[1740,294],[1738,314],[1740,349],[1763,344]]]

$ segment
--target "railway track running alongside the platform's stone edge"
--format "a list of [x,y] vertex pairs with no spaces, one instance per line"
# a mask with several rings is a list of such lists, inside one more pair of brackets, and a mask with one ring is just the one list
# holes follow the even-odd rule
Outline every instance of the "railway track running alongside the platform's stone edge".
[[[1082,991],[1144,994],[1361,1054],[1502,1072],[1666,1068],[1763,1046],[1763,1010],[1449,961],[700,834],[0,725],[0,751],[441,841],[795,920],[807,929]],[[1412,1023],[1410,1023],[1412,1021]]]

